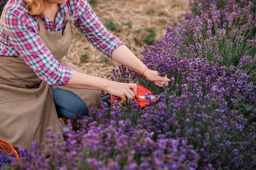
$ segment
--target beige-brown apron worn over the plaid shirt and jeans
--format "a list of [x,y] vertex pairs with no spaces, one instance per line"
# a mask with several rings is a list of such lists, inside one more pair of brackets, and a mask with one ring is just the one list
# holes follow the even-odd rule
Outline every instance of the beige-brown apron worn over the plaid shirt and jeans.
[[[67,13],[65,30],[45,31],[43,19],[39,19],[40,38],[54,57],[65,66],[78,68],[63,57],[72,42],[73,21]],[[0,56],[0,138],[15,147],[31,150],[31,141],[45,143],[47,128],[61,135],[52,91],[21,57]],[[63,86],[59,86],[65,88]],[[90,108],[93,102],[100,104],[101,91],[65,88],[79,95]],[[63,139],[64,142],[64,139]]]

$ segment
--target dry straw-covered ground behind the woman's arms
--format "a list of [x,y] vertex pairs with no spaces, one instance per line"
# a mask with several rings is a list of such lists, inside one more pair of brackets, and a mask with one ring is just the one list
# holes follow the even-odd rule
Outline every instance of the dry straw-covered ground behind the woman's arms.
[[[88,0],[88,2],[105,26],[112,25],[118,29],[110,32],[123,41],[138,57],[142,57],[141,51],[146,45],[147,35],[157,31],[155,42],[158,42],[164,37],[167,26],[183,20],[184,13],[190,12],[190,0]],[[151,32],[147,29],[151,29]],[[94,49],[78,32],[74,35],[66,57],[88,74],[107,79],[112,76],[112,69],[119,66]]]

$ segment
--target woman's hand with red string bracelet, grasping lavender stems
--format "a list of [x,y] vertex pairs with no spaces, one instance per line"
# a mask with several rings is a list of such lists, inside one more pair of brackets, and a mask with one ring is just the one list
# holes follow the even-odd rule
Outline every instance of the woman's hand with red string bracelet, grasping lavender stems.
[[167,78],[167,75],[161,77],[159,76],[159,73],[157,71],[150,70],[149,68],[146,68],[146,70],[144,70],[143,75],[148,80],[155,82],[155,85],[159,87],[168,86],[168,82],[170,82],[170,79]]

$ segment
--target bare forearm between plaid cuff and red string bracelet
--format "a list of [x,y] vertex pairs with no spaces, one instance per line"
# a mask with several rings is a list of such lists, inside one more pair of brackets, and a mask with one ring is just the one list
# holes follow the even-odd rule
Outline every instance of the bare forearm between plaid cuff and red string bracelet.
[[141,62],[125,45],[117,47],[117,49],[112,52],[111,58],[119,64],[127,66],[140,74],[142,74],[145,68],[147,68],[147,66]]

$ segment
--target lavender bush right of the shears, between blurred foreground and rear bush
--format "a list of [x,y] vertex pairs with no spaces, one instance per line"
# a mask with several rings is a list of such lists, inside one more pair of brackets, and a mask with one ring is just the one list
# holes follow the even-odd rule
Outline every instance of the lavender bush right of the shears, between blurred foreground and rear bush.
[[154,132],[156,141],[186,140],[199,154],[198,170],[253,170],[256,87],[249,76],[201,57],[174,56],[168,62],[175,63],[172,82],[159,103],[139,113],[137,128]]

